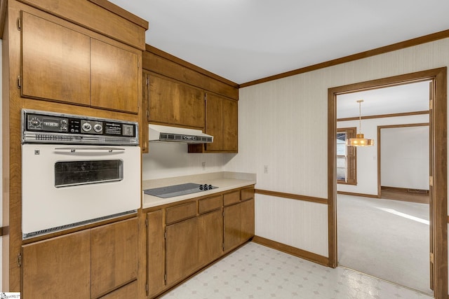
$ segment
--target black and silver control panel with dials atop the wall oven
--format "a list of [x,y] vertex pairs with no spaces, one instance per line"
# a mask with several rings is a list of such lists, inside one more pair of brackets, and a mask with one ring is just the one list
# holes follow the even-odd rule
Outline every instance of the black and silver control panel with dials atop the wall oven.
[[22,142],[138,144],[138,123],[22,109]]

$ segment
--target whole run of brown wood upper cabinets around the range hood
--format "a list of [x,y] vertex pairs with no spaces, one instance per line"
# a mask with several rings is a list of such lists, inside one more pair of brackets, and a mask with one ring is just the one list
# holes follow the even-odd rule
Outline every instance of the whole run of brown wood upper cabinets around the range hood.
[[213,135],[212,144],[189,144],[189,153],[237,153],[239,85],[149,45],[142,57],[146,120]]

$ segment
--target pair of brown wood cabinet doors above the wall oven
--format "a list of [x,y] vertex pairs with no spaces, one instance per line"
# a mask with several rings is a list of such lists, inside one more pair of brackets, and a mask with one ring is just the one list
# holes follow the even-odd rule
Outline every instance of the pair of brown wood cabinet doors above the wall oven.
[[20,31],[22,97],[138,113],[138,49],[42,12],[22,11]]

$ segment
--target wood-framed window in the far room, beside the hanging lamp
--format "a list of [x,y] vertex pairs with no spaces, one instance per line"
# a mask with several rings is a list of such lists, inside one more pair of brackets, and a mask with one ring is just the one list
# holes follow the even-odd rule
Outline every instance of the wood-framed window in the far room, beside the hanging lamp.
[[357,155],[355,146],[347,146],[346,140],[356,137],[356,127],[337,129],[337,183],[357,184]]

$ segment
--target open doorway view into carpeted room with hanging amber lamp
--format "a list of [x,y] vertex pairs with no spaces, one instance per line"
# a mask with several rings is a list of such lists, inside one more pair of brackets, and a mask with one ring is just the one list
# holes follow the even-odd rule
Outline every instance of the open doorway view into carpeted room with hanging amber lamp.
[[[351,110],[356,99],[367,107],[361,123]],[[340,266],[433,295],[428,109],[429,81],[337,95],[337,259]],[[341,130],[360,125],[375,146],[339,142]],[[339,152],[353,162],[342,163]],[[356,183],[350,171],[341,180],[344,166],[358,169]],[[426,195],[425,203],[416,202]]]

